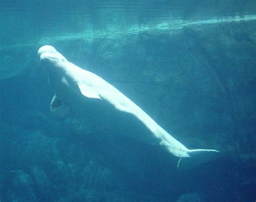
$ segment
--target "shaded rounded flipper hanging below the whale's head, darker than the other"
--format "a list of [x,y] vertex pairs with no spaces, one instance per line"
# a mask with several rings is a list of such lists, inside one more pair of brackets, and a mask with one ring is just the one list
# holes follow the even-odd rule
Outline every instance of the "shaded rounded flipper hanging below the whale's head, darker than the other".
[[50,111],[53,117],[62,120],[70,114],[70,106],[54,95],[50,103]]

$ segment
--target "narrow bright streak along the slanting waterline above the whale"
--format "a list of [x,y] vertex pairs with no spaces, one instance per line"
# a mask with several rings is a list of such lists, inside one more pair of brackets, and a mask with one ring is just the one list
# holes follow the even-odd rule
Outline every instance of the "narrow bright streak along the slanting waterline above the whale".
[[[222,17],[222,18],[208,18],[201,20],[183,20],[183,19],[174,19],[171,22],[167,23],[158,23],[158,24],[149,24],[149,25],[132,25],[129,27],[119,27],[117,25],[111,25],[105,27],[105,29],[92,30],[87,29],[84,32],[59,32],[59,33],[46,33],[44,36],[36,36],[28,32],[26,37],[19,38],[17,34],[14,38],[3,37],[0,39],[0,50],[6,48],[15,48],[15,47],[25,47],[25,46],[34,46],[34,45],[44,45],[57,43],[58,41],[68,41],[83,39],[87,41],[93,41],[97,38],[116,38],[122,37],[129,34],[139,34],[143,32],[158,33],[161,31],[172,33],[177,33],[181,29],[186,27],[194,30],[200,30],[206,26],[226,26],[230,23],[256,23],[256,15],[245,15],[245,16],[232,16],[232,17]],[[31,35],[31,36],[29,36]],[[17,43],[16,41],[19,41]],[[23,41],[23,43],[21,43]]]

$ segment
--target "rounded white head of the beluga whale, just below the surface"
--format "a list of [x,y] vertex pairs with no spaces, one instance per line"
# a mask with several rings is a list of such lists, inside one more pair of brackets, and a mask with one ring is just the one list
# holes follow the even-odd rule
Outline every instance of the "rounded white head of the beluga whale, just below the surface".
[[55,47],[50,45],[42,46],[39,48],[37,54],[42,66],[48,74],[64,71],[65,62],[68,60],[60,54]]

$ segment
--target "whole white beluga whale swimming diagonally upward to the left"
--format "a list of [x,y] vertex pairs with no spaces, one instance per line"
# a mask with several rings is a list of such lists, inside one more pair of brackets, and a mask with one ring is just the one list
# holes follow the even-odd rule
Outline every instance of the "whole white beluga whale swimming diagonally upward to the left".
[[183,167],[183,165],[189,167],[190,164],[197,165],[206,162],[218,154],[219,151],[213,149],[186,148],[185,145],[161,128],[129,97],[95,73],[68,61],[55,47],[50,45],[40,47],[38,56],[55,92],[50,103],[50,111],[57,119],[64,119],[76,108],[81,110],[80,106],[83,103],[86,103],[88,108],[97,108],[98,104],[104,102],[107,103],[107,107],[114,109],[114,111],[130,114],[140,124],[143,124],[149,130],[149,133],[144,134],[143,138],[159,145],[170,154],[180,157],[178,168]]

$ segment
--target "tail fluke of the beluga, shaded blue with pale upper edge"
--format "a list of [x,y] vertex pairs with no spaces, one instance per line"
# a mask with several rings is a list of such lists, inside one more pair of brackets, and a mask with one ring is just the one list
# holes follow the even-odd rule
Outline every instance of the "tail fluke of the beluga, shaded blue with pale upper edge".
[[219,151],[212,149],[191,149],[187,151],[190,157],[180,158],[177,168],[190,169],[197,167],[199,164],[205,163],[216,156]]

